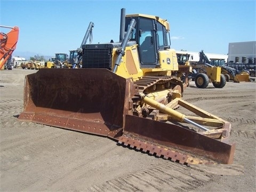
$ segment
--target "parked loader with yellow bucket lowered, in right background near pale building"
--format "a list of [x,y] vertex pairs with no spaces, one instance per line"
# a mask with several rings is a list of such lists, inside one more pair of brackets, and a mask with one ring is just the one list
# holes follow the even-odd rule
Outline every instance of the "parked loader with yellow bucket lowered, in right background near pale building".
[[211,65],[221,67],[221,74],[226,78],[226,81],[250,82],[250,74],[247,71],[239,71],[235,68],[226,66],[225,60],[218,58],[211,58]]

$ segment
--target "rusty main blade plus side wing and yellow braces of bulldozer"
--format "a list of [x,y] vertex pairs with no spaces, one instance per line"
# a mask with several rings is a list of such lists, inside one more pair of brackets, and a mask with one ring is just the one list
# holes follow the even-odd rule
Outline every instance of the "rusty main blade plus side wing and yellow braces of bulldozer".
[[[166,106],[149,95],[140,93],[131,78],[107,69],[40,69],[25,78],[24,111],[18,119],[102,135],[181,164],[233,162],[235,145],[227,143],[228,122],[189,105],[178,92],[172,92],[172,101]],[[141,106],[148,107],[150,114],[155,108],[161,115],[153,119],[133,116]],[[175,112],[177,106],[186,106],[201,117]],[[159,122],[167,120],[171,123]],[[177,122],[203,131],[186,129]]]

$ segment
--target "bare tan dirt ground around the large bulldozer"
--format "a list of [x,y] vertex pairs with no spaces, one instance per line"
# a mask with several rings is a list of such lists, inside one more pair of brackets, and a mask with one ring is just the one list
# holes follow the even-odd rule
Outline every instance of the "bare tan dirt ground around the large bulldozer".
[[35,72],[0,71],[1,191],[255,190],[255,82],[228,82],[223,89],[212,85],[197,89],[191,82],[185,90],[184,100],[231,123],[235,172],[220,175],[122,147],[107,138],[18,121],[24,77]]

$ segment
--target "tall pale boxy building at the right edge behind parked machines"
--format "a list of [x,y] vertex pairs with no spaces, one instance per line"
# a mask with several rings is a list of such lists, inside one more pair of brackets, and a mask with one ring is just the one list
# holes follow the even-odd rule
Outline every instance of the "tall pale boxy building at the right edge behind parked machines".
[[228,62],[249,63],[249,59],[255,62],[256,41],[229,43]]

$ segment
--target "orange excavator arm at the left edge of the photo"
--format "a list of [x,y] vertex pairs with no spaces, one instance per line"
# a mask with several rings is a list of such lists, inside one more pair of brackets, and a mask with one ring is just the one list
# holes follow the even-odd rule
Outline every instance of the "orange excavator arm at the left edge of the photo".
[[0,69],[3,68],[4,63],[11,57],[19,38],[19,27],[0,26],[2,28],[10,28],[9,33],[5,34],[0,31]]

